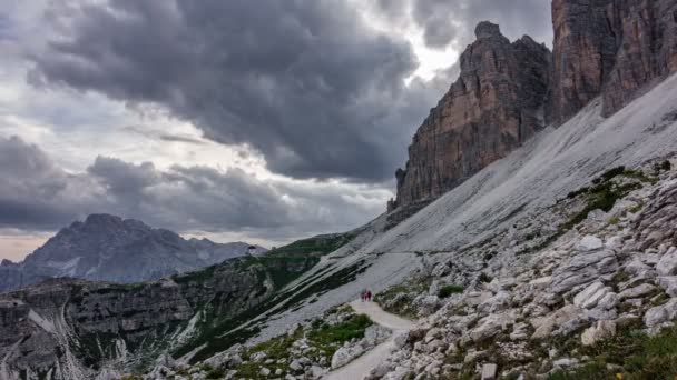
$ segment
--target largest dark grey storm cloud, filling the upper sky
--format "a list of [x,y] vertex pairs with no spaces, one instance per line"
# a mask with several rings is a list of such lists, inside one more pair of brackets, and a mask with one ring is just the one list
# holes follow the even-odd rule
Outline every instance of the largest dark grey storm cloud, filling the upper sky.
[[439,94],[404,87],[409,43],[334,0],[109,0],[51,18],[70,32],[32,57],[33,82],[166,107],[295,178],[391,178]]

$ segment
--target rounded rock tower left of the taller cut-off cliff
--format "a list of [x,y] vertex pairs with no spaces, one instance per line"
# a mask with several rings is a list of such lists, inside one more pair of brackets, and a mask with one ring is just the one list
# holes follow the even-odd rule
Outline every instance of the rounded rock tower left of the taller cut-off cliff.
[[481,22],[461,74],[416,131],[395,207],[432,200],[504,157],[543,127],[551,54],[529,37],[510,42]]

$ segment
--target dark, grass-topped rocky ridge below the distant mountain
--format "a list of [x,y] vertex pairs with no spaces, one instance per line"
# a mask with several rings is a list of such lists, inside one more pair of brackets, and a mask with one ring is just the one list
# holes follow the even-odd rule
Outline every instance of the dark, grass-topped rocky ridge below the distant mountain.
[[0,294],[0,379],[114,379],[163,352],[199,354],[204,336],[219,342],[317,260],[248,256],[157,282],[52,279]]

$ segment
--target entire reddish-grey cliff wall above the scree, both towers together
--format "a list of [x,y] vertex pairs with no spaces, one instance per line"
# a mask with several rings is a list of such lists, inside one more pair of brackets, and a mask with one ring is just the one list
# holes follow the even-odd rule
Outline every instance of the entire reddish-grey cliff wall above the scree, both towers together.
[[608,117],[677,71],[677,0],[553,0],[552,22],[552,54],[478,26],[460,78],[396,171],[390,211],[426,204],[598,97]]

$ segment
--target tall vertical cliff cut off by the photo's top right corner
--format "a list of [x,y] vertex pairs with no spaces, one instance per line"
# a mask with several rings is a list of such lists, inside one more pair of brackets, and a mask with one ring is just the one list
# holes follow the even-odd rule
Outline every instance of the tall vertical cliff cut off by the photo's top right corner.
[[598,96],[609,116],[677,71],[675,0],[553,0],[552,22],[557,123]]

